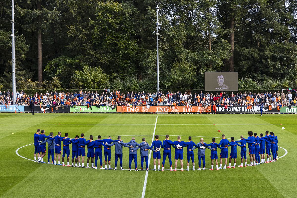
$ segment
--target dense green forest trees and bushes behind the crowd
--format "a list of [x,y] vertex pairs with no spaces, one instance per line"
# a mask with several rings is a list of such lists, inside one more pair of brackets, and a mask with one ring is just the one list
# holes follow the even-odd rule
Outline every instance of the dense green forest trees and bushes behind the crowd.
[[[155,1],[48,0],[41,9],[37,1],[15,1],[17,88],[36,84],[41,31],[46,83],[32,89],[155,89]],[[203,89],[205,71],[238,71],[239,89],[297,87],[295,0],[158,4],[160,88]],[[0,4],[3,88],[11,87],[10,6]]]

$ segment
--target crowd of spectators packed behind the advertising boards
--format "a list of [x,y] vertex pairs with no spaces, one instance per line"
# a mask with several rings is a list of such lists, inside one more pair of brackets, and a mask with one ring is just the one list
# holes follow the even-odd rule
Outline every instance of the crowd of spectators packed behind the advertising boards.
[[[186,106],[191,104],[192,106],[203,106],[208,107],[209,105],[216,106],[260,106],[261,103],[264,106],[272,106],[276,108],[277,106],[297,106],[297,91],[284,93],[283,91],[277,91],[274,93],[236,93],[233,92],[228,95],[225,92],[220,93],[191,93],[180,91],[170,92],[167,91],[163,93],[159,91],[156,93],[145,93],[142,92],[127,92],[123,93],[121,91],[110,91],[105,89],[104,92],[99,93],[98,91],[75,91],[74,93],[64,93],[57,91],[46,93],[35,93],[34,95],[27,95],[23,90],[17,91],[16,93],[16,104],[18,105],[29,105],[31,101],[35,105],[41,105],[44,107],[62,107],[68,108],[84,105],[88,106],[109,106],[114,107],[116,105],[133,107],[133,106]],[[10,90],[3,93],[0,91],[0,105],[11,105],[12,104],[12,93]]]

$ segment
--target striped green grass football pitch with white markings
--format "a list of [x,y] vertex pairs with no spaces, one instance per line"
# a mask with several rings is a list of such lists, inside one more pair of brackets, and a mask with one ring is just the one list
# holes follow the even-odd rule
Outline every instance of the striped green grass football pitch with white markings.
[[[259,114],[39,113],[31,116],[29,113],[1,113],[0,197],[296,197],[296,121],[297,115],[285,114],[259,116]],[[282,127],[285,127],[285,130],[282,130]],[[125,170],[37,164],[32,161],[34,160],[33,136],[36,129],[45,130],[46,135],[53,132],[54,136],[60,131],[61,137],[67,132],[70,138],[84,133],[87,140],[89,135],[93,135],[94,140],[98,135],[101,135],[102,139],[111,136],[113,140],[121,135],[124,142],[129,142],[131,137],[135,137],[135,141],[140,143],[145,137],[149,144],[154,140],[153,134],[159,135],[161,141],[165,139],[166,134],[169,134],[170,140],[173,141],[181,135],[181,140],[185,142],[192,136],[195,143],[199,142],[201,137],[204,138],[204,142],[210,143],[213,137],[219,142],[222,134],[230,140],[231,136],[240,139],[240,135],[244,135],[247,138],[248,131],[259,135],[265,134],[268,130],[278,136],[279,160],[253,167],[211,171],[210,150],[206,149],[206,170],[197,170],[198,156],[197,151],[194,151],[195,171],[192,170],[191,162],[190,171],[153,171],[152,155],[149,171],[135,171],[133,162],[132,171],[128,171],[126,169],[128,169],[129,149],[123,148]],[[111,153],[111,167],[114,168],[114,146],[111,147]],[[161,149],[160,167],[162,167],[162,153],[163,149]],[[247,159],[249,164],[249,157]],[[174,149],[172,149],[172,160],[174,168]],[[47,154],[44,161],[47,162]],[[240,165],[239,147],[237,147],[236,165]],[[177,167],[180,169],[179,162]],[[184,149],[184,170],[186,168],[187,153]],[[141,169],[140,151],[138,151],[138,169]],[[170,169],[168,159],[165,169]]]

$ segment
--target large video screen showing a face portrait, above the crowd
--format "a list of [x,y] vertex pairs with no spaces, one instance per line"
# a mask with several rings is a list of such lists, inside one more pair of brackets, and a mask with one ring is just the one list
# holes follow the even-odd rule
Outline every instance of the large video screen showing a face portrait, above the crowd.
[[237,72],[204,72],[205,91],[237,91]]

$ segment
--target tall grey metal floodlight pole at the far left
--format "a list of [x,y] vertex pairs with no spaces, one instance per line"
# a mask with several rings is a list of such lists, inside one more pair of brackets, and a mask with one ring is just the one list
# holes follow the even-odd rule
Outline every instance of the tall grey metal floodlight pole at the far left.
[[12,23],[12,104],[16,101],[15,91],[15,21],[14,21],[14,2],[11,0],[11,23]]

